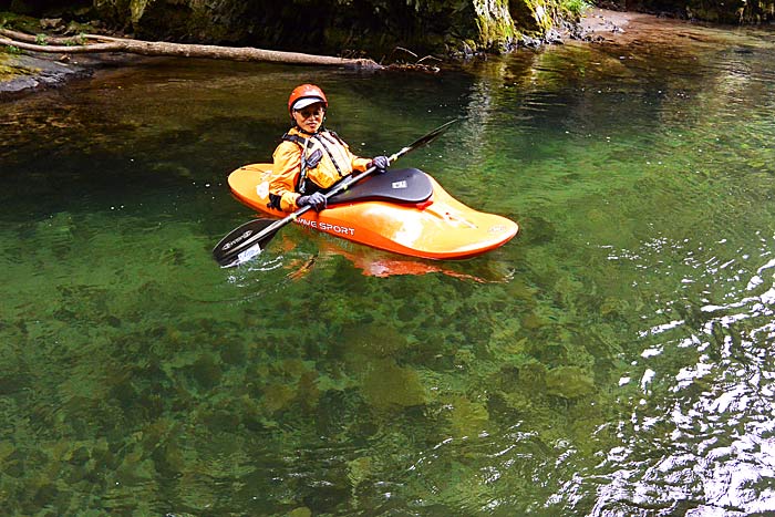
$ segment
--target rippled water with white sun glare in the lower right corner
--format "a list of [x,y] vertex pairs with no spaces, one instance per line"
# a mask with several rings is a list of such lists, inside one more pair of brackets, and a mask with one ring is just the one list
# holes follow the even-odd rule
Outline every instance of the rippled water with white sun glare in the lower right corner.
[[593,492],[591,515],[772,510],[775,236],[755,237],[742,247],[654,239],[637,252],[609,251],[674,290],[632,282],[658,298],[644,304],[619,379],[618,401],[630,407],[611,430],[621,444],[564,487],[566,500]]

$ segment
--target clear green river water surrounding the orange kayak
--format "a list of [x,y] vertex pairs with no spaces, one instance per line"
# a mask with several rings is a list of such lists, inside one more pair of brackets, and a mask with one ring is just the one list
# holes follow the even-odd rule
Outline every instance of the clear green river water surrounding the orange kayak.
[[[775,511],[775,33],[676,25],[436,75],[151,60],[0,105],[12,516]],[[299,83],[519,221],[411,260],[254,216]]]

